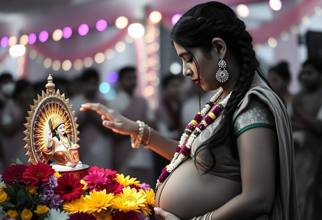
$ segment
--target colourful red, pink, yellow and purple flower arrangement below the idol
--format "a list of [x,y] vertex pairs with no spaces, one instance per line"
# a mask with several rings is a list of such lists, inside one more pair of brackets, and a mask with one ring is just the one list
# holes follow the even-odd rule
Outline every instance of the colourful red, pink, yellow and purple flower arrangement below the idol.
[[154,206],[148,184],[96,166],[79,179],[17,159],[0,175],[0,220],[147,220]]

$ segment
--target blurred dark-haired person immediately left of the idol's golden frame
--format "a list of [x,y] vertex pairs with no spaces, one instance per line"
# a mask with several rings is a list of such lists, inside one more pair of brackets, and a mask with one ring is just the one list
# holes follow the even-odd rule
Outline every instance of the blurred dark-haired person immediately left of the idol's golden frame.
[[[3,154],[2,159],[4,166],[13,163],[12,159],[18,158],[24,164],[27,164],[28,157],[25,156],[27,150],[24,149],[26,144],[23,134],[26,128],[24,123],[27,111],[30,111],[29,105],[33,103],[36,94],[33,85],[22,79],[17,81],[14,89],[14,102],[8,103],[0,115],[0,135],[2,136]],[[12,157],[14,155],[14,158]]]

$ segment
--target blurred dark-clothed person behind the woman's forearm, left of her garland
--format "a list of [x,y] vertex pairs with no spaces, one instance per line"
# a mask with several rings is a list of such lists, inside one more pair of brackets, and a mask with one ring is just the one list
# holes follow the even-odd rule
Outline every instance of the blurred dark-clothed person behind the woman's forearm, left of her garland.
[[[156,110],[156,129],[163,136],[180,140],[181,125],[178,119],[181,118],[182,105],[182,75],[166,75],[161,83],[161,101]],[[153,152],[155,175],[168,164],[168,160]]]

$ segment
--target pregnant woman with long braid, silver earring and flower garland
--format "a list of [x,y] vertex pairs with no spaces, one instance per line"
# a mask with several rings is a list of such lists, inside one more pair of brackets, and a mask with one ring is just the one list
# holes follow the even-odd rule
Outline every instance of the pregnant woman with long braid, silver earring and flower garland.
[[170,39],[184,76],[205,91],[221,88],[192,116],[180,142],[99,103],[81,106],[100,114],[106,128],[131,135],[132,147],[142,144],[169,160],[156,184],[156,219],[298,220],[289,117],[244,22],[225,4],[198,4]]

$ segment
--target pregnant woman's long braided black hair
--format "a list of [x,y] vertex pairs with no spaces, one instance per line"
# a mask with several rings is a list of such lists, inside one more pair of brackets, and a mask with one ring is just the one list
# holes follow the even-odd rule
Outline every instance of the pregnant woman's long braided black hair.
[[[194,155],[196,157],[202,150],[209,150],[213,159],[213,166],[208,169],[208,172],[213,169],[216,163],[212,149],[224,141],[229,141],[232,154],[238,158],[236,138],[233,135],[232,117],[237,105],[249,90],[255,71],[271,88],[259,68],[259,62],[253,50],[252,37],[246,31],[245,23],[237,17],[229,6],[215,1],[198,4],[183,14],[170,34],[173,45],[175,42],[191,54],[193,54],[191,48],[200,48],[204,56],[209,55],[212,48],[212,39],[215,37],[221,38],[227,47],[232,50],[233,55],[241,66],[241,70],[231,97],[223,110],[220,128],[197,149]],[[193,59],[199,77],[200,68],[194,56]]]

